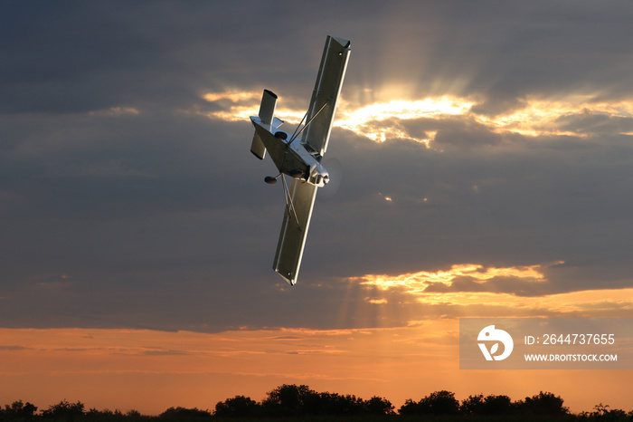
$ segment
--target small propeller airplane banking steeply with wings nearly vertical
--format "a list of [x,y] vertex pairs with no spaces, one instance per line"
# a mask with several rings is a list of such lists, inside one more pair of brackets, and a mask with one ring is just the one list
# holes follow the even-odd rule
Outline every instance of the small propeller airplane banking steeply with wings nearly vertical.
[[[269,151],[279,175],[267,176],[264,181],[274,185],[281,177],[284,188],[286,210],[272,268],[290,285],[297,283],[316,189],[329,181],[321,160],[330,138],[350,51],[349,40],[327,36],[312,98],[294,133],[279,129],[283,121],[274,117],[278,97],[272,91],[264,90],[259,114],[250,116],[255,127],[250,152],[264,159]],[[306,124],[301,126],[304,121]],[[289,188],[286,175],[292,177]]]

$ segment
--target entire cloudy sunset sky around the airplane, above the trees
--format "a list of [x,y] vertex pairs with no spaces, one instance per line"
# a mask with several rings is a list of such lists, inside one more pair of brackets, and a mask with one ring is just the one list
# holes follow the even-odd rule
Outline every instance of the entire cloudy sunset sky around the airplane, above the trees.
[[[630,370],[460,370],[460,317],[633,316],[628,1],[0,5],[0,397],[213,408],[283,383],[630,410]],[[284,128],[352,53],[298,284]],[[594,388],[588,388],[588,386]],[[5,403],[2,403],[5,404]]]

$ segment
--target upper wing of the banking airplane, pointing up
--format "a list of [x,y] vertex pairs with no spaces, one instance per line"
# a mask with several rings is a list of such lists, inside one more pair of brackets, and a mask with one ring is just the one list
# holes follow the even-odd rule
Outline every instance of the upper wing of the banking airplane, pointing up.
[[315,91],[312,92],[310,107],[307,110],[306,121],[309,124],[301,138],[301,143],[307,144],[320,156],[326,153],[349,52],[349,40],[327,36],[321,65],[316,75]]

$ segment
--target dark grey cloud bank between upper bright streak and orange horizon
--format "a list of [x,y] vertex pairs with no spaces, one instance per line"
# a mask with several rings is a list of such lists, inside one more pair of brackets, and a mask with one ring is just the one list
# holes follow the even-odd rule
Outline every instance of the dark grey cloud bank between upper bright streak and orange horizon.
[[[252,315],[259,315],[255,325],[333,327],[344,306],[341,277],[435,272],[455,263],[566,263],[545,287],[463,279],[454,287],[461,291],[546,294],[591,289],[597,280],[605,288],[630,285],[623,252],[629,201],[621,195],[628,189],[625,138],[534,139],[484,127],[483,139],[496,139],[486,144],[477,142],[477,132],[443,129],[436,136],[442,151],[403,139],[377,144],[336,128],[328,154],[344,168],[341,187],[332,200],[316,203],[304,283],[279,291],[281,281],[267,269],[282,197],[261,183],[272,170],[267,162],[249,162],[248,154],[239,171],[225,159],[248,152],[248,122],[163,116],[155,129],[146,129],[155,118],[142,113],[86,118],[101,133],[112,119],[123,119],[122,139],[86,139],[99,154],[43,137],[15,150],[11,161],[4,158],[5,176],[12,168],[40,172],[35,179],[5,178],[5,218],[13,224],[3,233],[13,247],[3,268],[4,321],[215,331],[253,325]],[[222,137],[210,143],[209,133]],[[457,134],[471,146],[451,145]],[[152,142],[134,141],[147,136]],[[27,265],[28,256],[38,258]],[[32,289],[44,274],[52,280],[66,274],[65,292]],[[359,292],[353,306],[381,300],[365,297]],[[33,305],[11,304],[23,301]],[[248,303],[249,312],[231,307],[233,301]],[[315,321],[295,301],[331,316]]]

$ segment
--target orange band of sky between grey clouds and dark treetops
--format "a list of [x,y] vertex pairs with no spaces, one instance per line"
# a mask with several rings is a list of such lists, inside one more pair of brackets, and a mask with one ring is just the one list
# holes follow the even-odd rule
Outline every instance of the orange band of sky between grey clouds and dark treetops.
[[[5,360],[3,374],[10,381],[7,385],[11,391],[5,390],[3,397],[8,403],[30,401],[41,409],[41,401],[50,397],[51,404],[61,399],[80,400],[87,408],[118,408],[124,412],[134,409],[155,416],[176,406],[210,409],[237,395],[259,401],[279,385],[304,384],[317,391],[334,390],[364,399],[376,395],[389,399],[396,408],[408,398],[418,400],[445,389],[455,392],[460,402],[475,394],[506,395],[518,400],[548,391],[562,397],[563,405],[575,414],[590,411],[598,404],[631,409],[630,396],[621,388],[628,382],[628,369],[459,370],[458,356],[453,360],[445,357],[445,353],[458,354],[458,322],[443,323],[447,335],[430,339],[425,331],[430,324],[427,323],[417,327],[417,335],[410,334],[402,340],[397,339],[409,328],[218,333],[0,329],[0,338],[17,334],[13,340],[23,345],[4,346],[5,356],[11,350],[14,356],[29,354],[27,361],[37,362],[34,368],[25,369],[16,367],[18,360]],[[426,345],[424,354],[417,346],[420,343]],[[372,368],[360,373],[359,360],[371,360]],[[414,364],[420,360],[427,363]],[[288,372],[288,366],[294,372]],[[424,377],[429,370],[430,376]],[[456,370],[464,375],[446,379]],[[480,379],[481,374],[486,374],[486,379]],[[588,375],[602,388],[600,392],[583,389],[579,394],[578,385]],[[521,377],[523,382],[515,383],[515,377]],[[87,390],[87,379],[98,388]],[[609,380],[619,382],[608,385]],[[33,393],[34,385],[43,398],[33,398],[38,396]],[[60,385],[64,386],[63,397],[57,393]],[[187,388],[177,389],[183,385]],[[414,394],[414,389],[418,393]],[[174,403],[165,403],[169,400]]]

